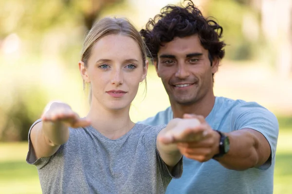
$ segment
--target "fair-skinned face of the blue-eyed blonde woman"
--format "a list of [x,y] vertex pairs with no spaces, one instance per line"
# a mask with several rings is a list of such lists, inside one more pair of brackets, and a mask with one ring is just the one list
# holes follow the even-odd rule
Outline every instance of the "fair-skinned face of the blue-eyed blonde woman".
[[87,68],[82,68],[82,63],[80,68],[83,79],[91,83],[91,104],[109,110],[129,107],[139,83],[146,78],[148,64],[143,64],[134,39],[110,34],[98,40],[91,49]]

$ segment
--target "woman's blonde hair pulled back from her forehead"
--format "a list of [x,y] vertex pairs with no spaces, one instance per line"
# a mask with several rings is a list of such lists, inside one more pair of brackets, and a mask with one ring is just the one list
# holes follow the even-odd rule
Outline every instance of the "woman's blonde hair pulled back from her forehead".
[[[81,61],[87,67],[93,45],[101,38],[110,34],[122,34],[135,40],[141,50],[143,65],[146,65],[147,47],[140,33],[127,18],[104,17],[96,22],[87,34],[82,48]],[[83,81],[83,89],[86,89]],[[89,101],[91,102],[91,85],[89,84]]]

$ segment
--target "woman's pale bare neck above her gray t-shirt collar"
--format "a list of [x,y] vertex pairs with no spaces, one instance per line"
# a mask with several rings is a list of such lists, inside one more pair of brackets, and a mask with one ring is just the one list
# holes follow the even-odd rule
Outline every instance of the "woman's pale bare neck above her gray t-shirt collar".
[[135,125],[130,119],[129,109],[130,106],[121,110],[109,110],[92,100],[86,118],[90,119],[91,126],[105,137],[118,139]]

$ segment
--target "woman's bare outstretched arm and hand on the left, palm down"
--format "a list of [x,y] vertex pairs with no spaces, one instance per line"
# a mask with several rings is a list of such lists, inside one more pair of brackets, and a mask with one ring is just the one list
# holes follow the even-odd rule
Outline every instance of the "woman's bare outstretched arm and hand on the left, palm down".
[[38,122],[31,130],[30,138],[37,159],[55,154],[69,140],[71,128],[86,127],[90,121],[80,118],[68,104],[50,102]]

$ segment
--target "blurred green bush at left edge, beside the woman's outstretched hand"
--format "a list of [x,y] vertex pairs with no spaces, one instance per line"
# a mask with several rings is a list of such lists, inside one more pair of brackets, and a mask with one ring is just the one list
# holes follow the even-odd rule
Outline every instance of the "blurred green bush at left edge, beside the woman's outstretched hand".
[[[25,91],[15,88],[13,95],[2,99],[0,114],[0,141],[25,141],[32,123],[39,118],[39,113],[47,102],[46,92],[38,87],[27,87]],[[7,103],[8,102],[8,103]]]

